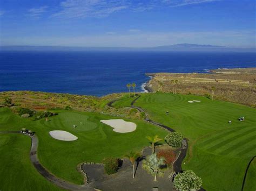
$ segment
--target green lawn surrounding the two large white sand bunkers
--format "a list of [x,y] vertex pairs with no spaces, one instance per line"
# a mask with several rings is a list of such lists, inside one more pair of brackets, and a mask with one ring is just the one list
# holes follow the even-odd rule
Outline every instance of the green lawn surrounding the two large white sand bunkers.
[[[117,133],[110,126],[99,122],[101,119],[115,117],[90,112],[61,110],[55,112],[59,114],[50,117],[49,122],[45,122],[44,119],[30,121],[13,114],[9,109],[0,108],[0,131],[21,128],[35,131],[39,139],[38,157],[43,166],[59,178],[77,184],[83,183],[83,176],[76,169],[80,162],[101,162],[105,157],[122,157],[131,150],[140,151],[144,146],[149,146],[146,136],[159,135],[164,138],[167,135],[167,131],[143,121],[124,119],[136,123],[137,129],[130,133]],[[74,124],[77,125],[75,129]],[[52,130],[68,131],[78,139],[73,142],[53,139],[49,135],[49,131]],[[26,147],[28,151],[29,147],[29,145]],[[15,157],[19,158],[19,155]],[[9,161],[15,157],[11,157]],[[30,162],[29,153],[28,162]],[[5,165],[5,161],[0,160],[0,165]],[[22,171],[20,175],[30,179],[30,176],[23,174]]]

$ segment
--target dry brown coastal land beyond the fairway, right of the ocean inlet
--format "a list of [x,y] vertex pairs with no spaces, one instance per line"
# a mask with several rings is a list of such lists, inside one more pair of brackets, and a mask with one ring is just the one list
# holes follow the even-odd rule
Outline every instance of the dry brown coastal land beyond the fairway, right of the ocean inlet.
[[178,80],[177,93],[206,95],[211,94],[219,100],[241,103],[256,107],[256,68],[216,69],[211,73],[156,73],[149,87],[153,91],[172,93]]

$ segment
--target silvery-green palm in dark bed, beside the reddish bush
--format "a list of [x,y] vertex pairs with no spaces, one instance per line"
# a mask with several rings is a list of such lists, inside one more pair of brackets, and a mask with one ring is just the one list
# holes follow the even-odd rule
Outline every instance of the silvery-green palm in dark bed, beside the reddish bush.
[[157,181],[157,175],[163,176],[164,172],[161,171],[161,166],[165,165],[164,158],[157,158],[156,153],[147,156],[145,160],[143,160],[142,167],[149,174],[154,176],[154,181]]

